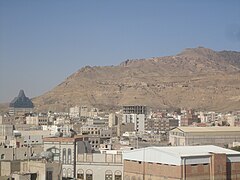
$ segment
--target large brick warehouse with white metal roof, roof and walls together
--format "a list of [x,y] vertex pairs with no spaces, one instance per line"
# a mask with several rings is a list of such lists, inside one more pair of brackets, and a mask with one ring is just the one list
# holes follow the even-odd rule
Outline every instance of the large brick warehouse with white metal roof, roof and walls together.
[[149,147],[123,159],[124,180],[240,179],[240,152],[217,146]]

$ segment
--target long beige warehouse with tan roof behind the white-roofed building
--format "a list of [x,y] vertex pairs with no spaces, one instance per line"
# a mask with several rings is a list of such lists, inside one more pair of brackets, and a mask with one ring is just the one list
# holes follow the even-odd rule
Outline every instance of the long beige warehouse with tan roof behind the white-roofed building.
[[240,127],[177,127],[169,132],[172,146],[227,146],[240,140]]

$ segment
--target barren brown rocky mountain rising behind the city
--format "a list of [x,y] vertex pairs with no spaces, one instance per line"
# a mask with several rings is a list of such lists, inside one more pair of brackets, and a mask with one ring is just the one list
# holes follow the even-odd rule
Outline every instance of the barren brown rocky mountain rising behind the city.
[[86,66],[32,99],[37,110],[87,105],[240,110],[240,52],[188,48],[175,56]]

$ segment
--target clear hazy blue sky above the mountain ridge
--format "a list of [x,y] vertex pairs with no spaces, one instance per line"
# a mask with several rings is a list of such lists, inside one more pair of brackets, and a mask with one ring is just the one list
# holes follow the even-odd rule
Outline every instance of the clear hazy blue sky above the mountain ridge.
[[240,50],[239,0],[1,0],[0,102],[43,94],[83,66]]

